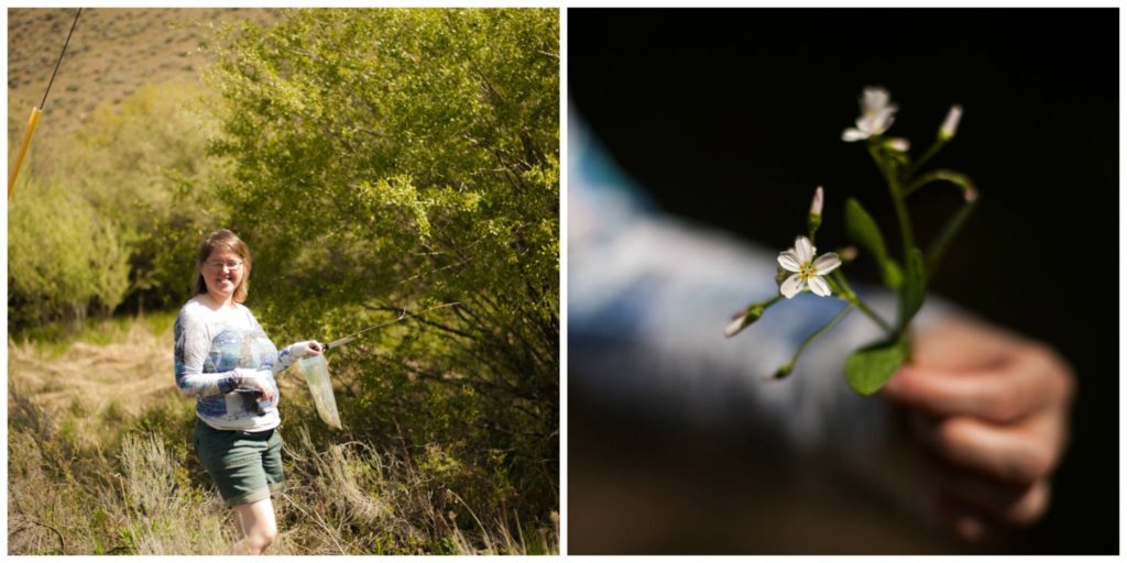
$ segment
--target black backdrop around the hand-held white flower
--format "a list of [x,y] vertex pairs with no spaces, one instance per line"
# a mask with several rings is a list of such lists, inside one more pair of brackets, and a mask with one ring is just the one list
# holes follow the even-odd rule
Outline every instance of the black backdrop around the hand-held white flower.
[[[846,240],[848,196],[895,233],[863,143],[841,141],[863,87],[889,89],[900,111],[886,135],[909,138],[913,155],[961,104],[958,135],[928,168],[966,172],[982,200],[931,289],[1049,342],[1080,382],[1051,510],[1004,549],[1117,553],[1118,20],[1116,9],[570,9],[569,99],[664,211],[770,248],[791,243],[817,185],[820,240]],[[921,245],[959,202],[947,185],[909,199]],[[636,421],[582,393],[569,420],[569,545],[580,553],[584,476],[623,448],[660,465],[677,441],[616,430]],[[717,477],[709,466],[689,471]]]

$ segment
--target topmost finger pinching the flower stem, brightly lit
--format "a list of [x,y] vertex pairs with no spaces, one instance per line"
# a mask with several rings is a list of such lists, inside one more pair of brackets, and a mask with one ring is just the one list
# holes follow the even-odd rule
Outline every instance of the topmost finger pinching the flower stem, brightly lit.
[[885,386],[894,402],[933,414],[1010,422],[1070,395],[1067,375],[1053,357],[1023,346],[1000,365],[975,370],[905,366]]

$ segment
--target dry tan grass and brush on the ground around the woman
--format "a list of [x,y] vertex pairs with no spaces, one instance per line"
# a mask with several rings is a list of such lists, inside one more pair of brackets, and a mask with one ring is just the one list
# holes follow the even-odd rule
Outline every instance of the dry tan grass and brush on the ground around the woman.
[[[167,324],[106,328],[122,340],[61,351],[9,342],[9,554],[222,554],[234,542],[187,445],[194,414],[172,388]],[[406,447],[319,443],[300,423],[283,436],[270,554],[558,553],[558,528],[477,513]]]

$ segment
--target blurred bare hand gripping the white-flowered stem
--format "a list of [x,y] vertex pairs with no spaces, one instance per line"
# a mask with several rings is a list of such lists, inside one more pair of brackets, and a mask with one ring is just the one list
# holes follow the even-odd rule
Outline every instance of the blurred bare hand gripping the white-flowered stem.
[[1068,440],[1072,369],[1047,346],[968,319],[919,334],[884,388],[934,453],[940,515],[969,542],[1028,526],[1048,508]]

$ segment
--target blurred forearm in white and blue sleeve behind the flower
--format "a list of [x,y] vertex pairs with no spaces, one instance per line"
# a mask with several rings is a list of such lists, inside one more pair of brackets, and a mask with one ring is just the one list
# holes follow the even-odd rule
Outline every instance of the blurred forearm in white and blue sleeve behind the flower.
[[[589,399],[686,422],[744,426],[751,419],[788,449],[842,449],[846,457],[863,456],[885,437],[887,405],[858,396],[843,375],[849,354],[881,337],[864,315],[846,316],[786,379],[764,381],[843,302],[804,295],[724,338],[733,313],[778,293],[773,252],[683,222],[649,220],[573,254],[570,381]],[[895,319],[894,295],[859,289],[877,314]],[[930,303],[922,322],[942,314],[943,305]]]

